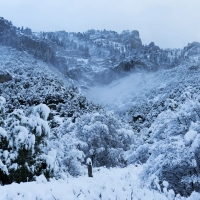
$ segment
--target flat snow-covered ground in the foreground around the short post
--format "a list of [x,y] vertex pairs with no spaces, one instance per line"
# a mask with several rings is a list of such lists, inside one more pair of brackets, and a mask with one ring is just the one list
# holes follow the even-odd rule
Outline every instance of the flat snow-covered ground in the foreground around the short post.
[[148,189],[138,179],[140,165],[127,168],[98,168],[93,170],[93,178],[87,175],[78,178],[52,179],[47,182],[42,176],[35,182],[13,183],[0,186],[0,200],[199,200],[193,192],[188,198],[174,197],[172,190],[161,193]]

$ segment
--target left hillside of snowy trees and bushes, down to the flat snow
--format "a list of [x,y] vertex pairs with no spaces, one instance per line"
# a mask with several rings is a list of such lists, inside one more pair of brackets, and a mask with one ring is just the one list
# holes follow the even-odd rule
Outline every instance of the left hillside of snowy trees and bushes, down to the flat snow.
[[96,167],[125,166],[130,127],[26,52],[1,46],[1,55],[12,77],[0,85],[2,184],[81,175],[87,157]]

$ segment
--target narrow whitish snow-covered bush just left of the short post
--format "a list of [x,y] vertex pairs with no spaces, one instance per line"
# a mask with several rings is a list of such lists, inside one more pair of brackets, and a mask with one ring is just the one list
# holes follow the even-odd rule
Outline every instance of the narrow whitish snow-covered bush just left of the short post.
[[62,126],[57,130],[57,137],[52,138],[51,145],[57,150],[57,163],[59,166],[56,177],[62,177],[70,174],[72,176],[78,176],[83,174],[85,155],[80,150],[81,146],[86,144],[80,141],[75,135],[75,125],[68,119]]

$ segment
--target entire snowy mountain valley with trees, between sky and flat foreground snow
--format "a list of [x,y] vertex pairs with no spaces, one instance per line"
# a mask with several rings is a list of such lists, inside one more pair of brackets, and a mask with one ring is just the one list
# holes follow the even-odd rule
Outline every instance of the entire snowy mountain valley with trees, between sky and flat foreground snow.
[[145,187],[177,198],[200,192],[199,73],[198,42],[161,49],[138,31],[33,33],[0,18],[2,184],[83,175],[90,157],[139,163]]

